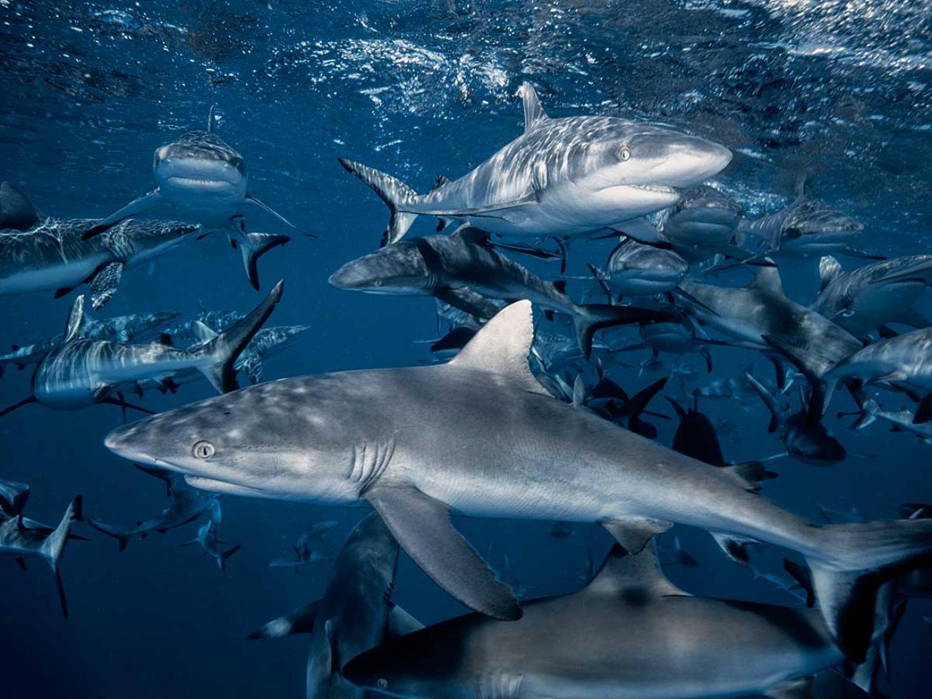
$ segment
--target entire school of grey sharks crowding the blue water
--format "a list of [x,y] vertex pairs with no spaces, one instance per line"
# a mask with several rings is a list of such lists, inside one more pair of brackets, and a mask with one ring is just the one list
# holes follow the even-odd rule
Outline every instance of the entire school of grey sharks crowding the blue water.
[[[372,222],[355,259],[308,275],[373,295],[373,314],[377,295],[432,297],[440,332],[430,359],[412,349],[407,366],[264,380],[267,358],[319,328],[275,324],[276,308],[301,299],[261,277],[262,260],[312,254],[336,232],[295,220],[275,189],[255,191],[249,144],[226,142],[210,104],[191,116],[199,129],[165,134],[152,188],[129,203],[62,219],[3,183],[0,295],[62,299],[62,331],[11,338],[0,372],[32,379],[28,394],[5,391],[0,417],[112,405],[122,424],[87,439],[161,482],[166,504],[122,525],[75,494],[57,523],[40,523],[27,516],[43,494],[25,461],[5,459],[0,554],[23,569],[41,559],[57,601],[38,579],[35,595],[74,617],[96,604],[65,594],[67,559],[89,537],[123,551],[186,528],[183,545],[225,570],[240,551],[223,539],[227,498],[366,508],[336,550],[337,522],[325,520],[270,561],[329,575],[322,598],[242,629],[309,635],[307,665],[295,667],[308,697],[883,696],[909,602],[932,594],[929,494],[885,520],[816,522],[768,488],[789,468],[836,466],[845,478],[857,457],[829,415],[849,413],[851,435],[892,427],[932,443],[932,320],[919,308],[932,254],[875,254],[859,241],[864,226],[802,175],[787,206],[749,217],[717,181],[728,144],[641,119],[552,117],[530,82],[516,87],[523,130],[471,145],[486,159],[459,177],[405,184],[360,143],[321,166],[367,185],[354,183],[358,197],[381,199],[388,223]],[[248,212],[283,232],[250,230]],[[428,221],[435,230],[412,230]],[[246,280],[223,283],[252,285],[254,304],[108,316],[124,275],[170,252],[197,255],[208,237],[240,256]],[[602,239],[617,243],[607,259],[592,252]],[[573,271],[581,263],[586,274]],[[821,284],[806,306],[781,272],[810,264]],[[701,389],[678,391],[665,368],[695,355],[711,372],[724,351],[747,366]],[[215,395],[186,403],[199,381]],[[153,392],[176,405],[156,413]],[[752,432],[776,434],[783,452],[727,459],[710,418],[722,397],[756,411]],[[668,420],[672,441],[657,430]],[[459,517],[550,522],[554,540],[597,525],[612,542],[575,592],[535,597],[507,553],[502,567],[459,532]],[[779,586],[786,603],[671,583],[665,570],[704,565],[669,543],[674,527],[707,532],[728,565]],[[466,613],[425,625],[397,604],[403,552]],[[759,566],[768,553],[783,570]]]

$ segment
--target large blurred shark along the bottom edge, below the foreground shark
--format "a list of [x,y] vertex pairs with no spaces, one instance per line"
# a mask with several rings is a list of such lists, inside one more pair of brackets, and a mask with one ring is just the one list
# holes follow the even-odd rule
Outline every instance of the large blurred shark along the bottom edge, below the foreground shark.
[[690,596],[666,581],[651,541],[637,555],[616,544],[582,591],[528,602],[519,621],[461,616],[344,673],[393,697],[712,699],[842,662],[816,611]]

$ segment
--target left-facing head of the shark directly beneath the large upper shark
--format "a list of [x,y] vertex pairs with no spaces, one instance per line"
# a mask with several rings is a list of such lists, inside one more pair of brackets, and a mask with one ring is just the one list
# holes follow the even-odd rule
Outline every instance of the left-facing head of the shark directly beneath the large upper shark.
[[376,253],[366,254],[330,275],[330,283],[340,289],[366,294],[430,295],[437,274],[425,259],[424,248],[433,252],[423,240],[403,240],[387,245]]

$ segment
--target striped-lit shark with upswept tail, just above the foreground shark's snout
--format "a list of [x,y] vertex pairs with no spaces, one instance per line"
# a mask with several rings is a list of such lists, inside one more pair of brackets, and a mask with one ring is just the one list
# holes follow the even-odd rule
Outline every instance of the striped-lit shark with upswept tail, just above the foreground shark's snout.
[[[161,342],[130,345],[80,336],[84,296],[78,296],[68,316],[62,343],[35,367],[32,395],[0,410],[0,417],[23,405],[38,403],[56,410],[76,410],[97,403],[127,404],[123,389],[136,390],[145,379],[166,379],[196,370],[216,391],[237,388],[236,361],[267,321],[281,299],[280,281],[266,299],[224,333],[194,349],[176,349]],[[146,412],[142,409],[143,412]]]

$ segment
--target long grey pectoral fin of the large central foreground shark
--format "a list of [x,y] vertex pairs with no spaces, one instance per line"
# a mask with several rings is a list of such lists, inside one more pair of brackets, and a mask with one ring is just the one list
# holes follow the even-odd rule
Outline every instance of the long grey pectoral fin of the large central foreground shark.
[[450,508],[412,487],[376,486],[366,500],[381,515],[404,551],[433,581],[467,607],[496,619],[521,618],[511,588],[450,522]]

